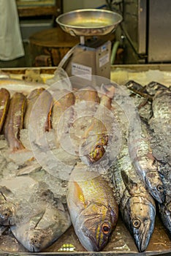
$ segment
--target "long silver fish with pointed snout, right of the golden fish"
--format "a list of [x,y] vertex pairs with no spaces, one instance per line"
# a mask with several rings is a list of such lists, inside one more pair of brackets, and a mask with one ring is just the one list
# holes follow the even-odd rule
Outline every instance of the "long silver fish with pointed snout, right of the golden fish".
[[[121,94],[119,94],[120,96]],[[124,95],[123,95],[124,96]],[[129,154],[129,147],[132,146],[134,139],[139,137],[137,134],[133,135],[133,140],[129,136],[131,132],[129,129],[137,126],[134,118],[134,125],[132,126],[128,115],[125,111],[125,97],[118,98],[118,101],[113,108],[115,108],[115,118],[120,124],[121,129],[121,149],[118,152],[117,158],[108,170],[110,182],[113,184],[113,191],[116,201],[119,206],[121,218],[126,225],[129,233],[132,234],[134,243],[139,252],[144,252],[151,240],[153,229],[155,225],[156,205],[153,197],[148,192],[144,182],[138,175]],[[134,110],[130,102],[129,109]],[[127,109],[127,108],[126,108]],[[136,112],[131,115],[136,115]],[[136,116],[135,116],[136,117]],[[140,129],[137,127],[139,135]],[[113,151],[115,150],[113,145]],[[134,146],[134,145],[133,145]]]

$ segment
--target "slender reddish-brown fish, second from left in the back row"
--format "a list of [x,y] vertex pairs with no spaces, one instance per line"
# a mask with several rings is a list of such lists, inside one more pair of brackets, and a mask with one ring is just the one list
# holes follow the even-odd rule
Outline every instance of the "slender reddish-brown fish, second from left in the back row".
[[7,118],[4,123],[4,135],[13,153],[25,148],[20,141],[20,129],[23,128],[23,116],[25,111],[26,97],[16,92],[10,100]]

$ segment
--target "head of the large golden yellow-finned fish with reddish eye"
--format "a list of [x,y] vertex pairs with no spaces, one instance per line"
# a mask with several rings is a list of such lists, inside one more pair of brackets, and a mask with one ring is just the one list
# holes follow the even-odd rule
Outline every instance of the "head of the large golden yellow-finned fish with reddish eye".
[[91,203],[75,223],[75,232],[87,251],[99,252],[106,246],[115,229],[118,211],[110,206]]

